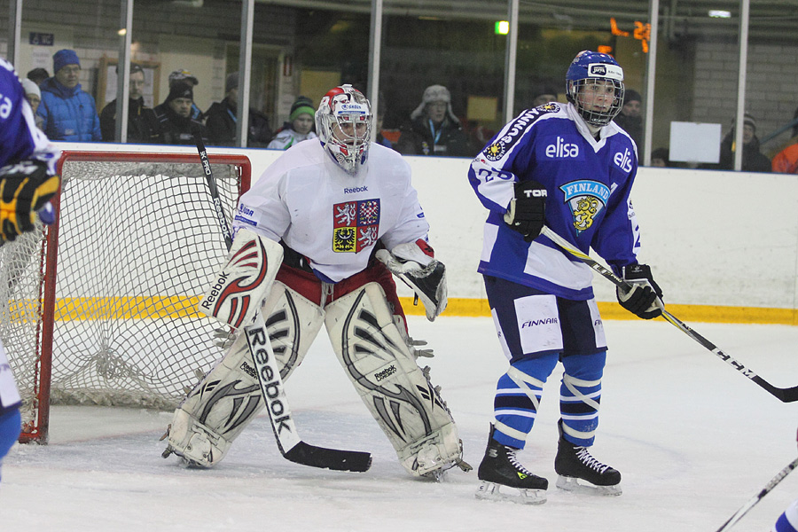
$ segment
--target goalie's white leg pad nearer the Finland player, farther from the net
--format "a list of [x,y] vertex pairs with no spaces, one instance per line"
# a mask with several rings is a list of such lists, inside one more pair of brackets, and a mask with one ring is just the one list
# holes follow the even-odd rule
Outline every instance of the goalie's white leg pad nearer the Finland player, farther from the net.
[[[376,283],[325,307],[336,356],[366,407],[414,476],[437,476],[462,462],[457,426],[421,370]],[[462,465],[461,465],[462,466]]]

